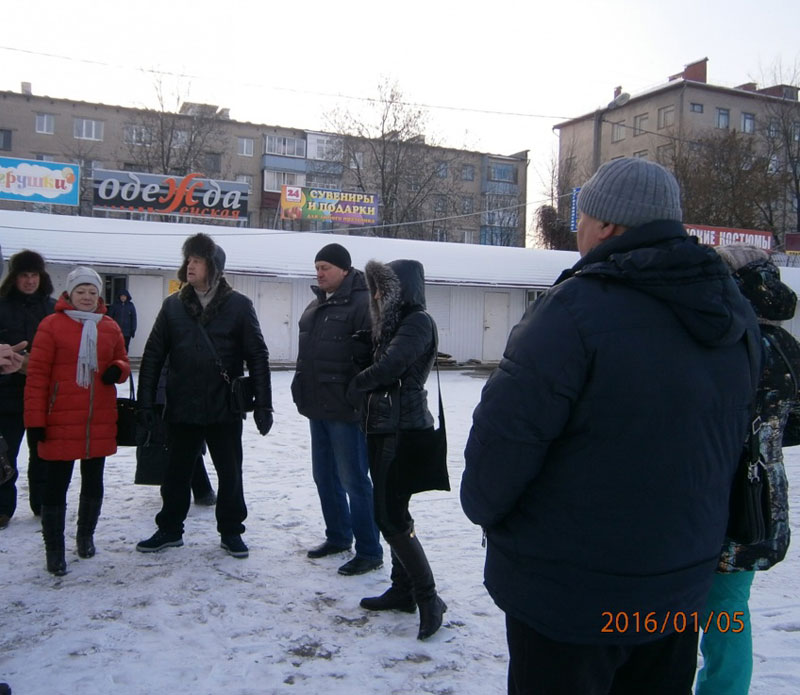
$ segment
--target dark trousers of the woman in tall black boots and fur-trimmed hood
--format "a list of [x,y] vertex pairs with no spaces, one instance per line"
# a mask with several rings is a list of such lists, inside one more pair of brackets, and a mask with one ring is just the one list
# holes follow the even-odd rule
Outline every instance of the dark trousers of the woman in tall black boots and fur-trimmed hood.
[[384,538],[406,533],[414,526],[414,519],[408,511],[408,502],[411,498],[399,492],[396,450],[397,437],[393,434],[367,436],[375,522]]

